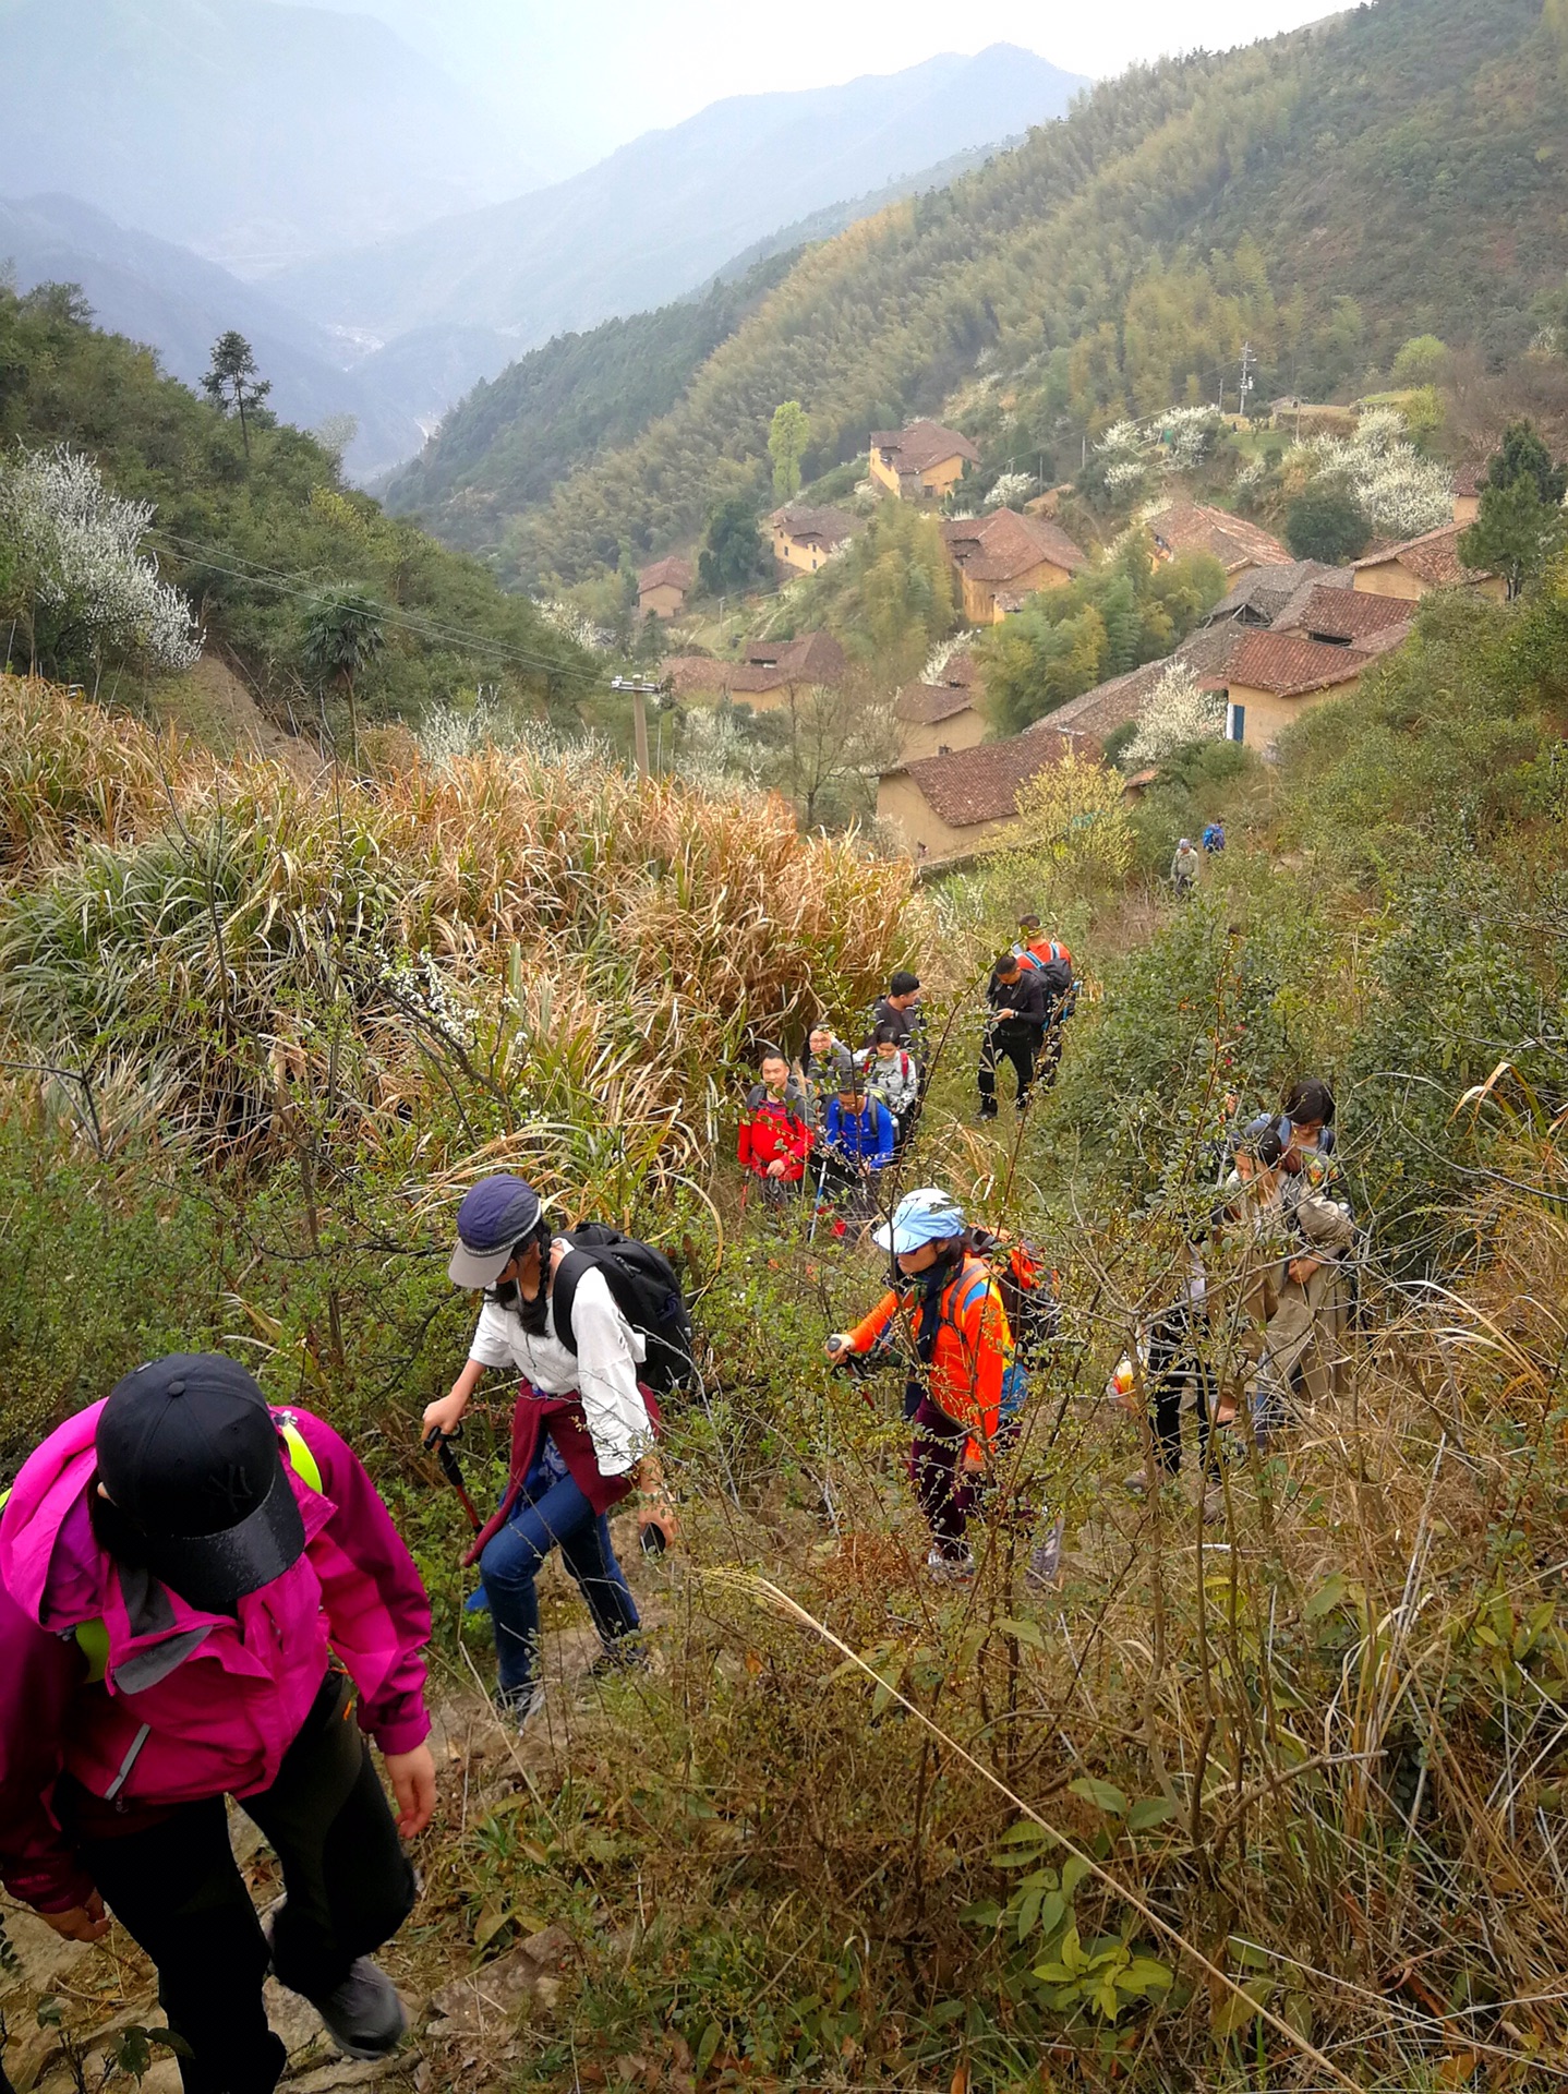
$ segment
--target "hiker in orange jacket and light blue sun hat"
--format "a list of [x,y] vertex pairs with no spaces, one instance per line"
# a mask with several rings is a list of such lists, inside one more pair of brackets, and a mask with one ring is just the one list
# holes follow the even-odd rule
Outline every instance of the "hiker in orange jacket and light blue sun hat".
[[[915,1428],[909,1474],[938,1585],[973,1577],[965,1527],[988,1480],[1007,1397],[1017,1386],[1013,1334],[1001,1290],[965,1242],[963,1208],[940,1187],[904,1194],[873,1244],[890,1250],[906,1286],[894,1286],[854,1330],[827,1340],[827,1357],[871,1353],[894,1328],[909,1344],[904,1418]],[[1009,1382],[1013,1388],[1009,1388]],[[1034,1552],[1030,1581],[1055,1575],[1055,1545]]]

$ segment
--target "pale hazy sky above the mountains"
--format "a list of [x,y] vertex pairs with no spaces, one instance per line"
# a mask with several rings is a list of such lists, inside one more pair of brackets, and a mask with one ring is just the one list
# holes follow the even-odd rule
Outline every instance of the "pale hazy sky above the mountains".
[[[756,0],[322,0],[377,15],[469,86],[586,163],[726,94],[896,73],[938,50],[1024,44],[1103,77],[1135,59],[1294,29],[1325,0],[833,0],[800,13]],[[521,140],[519,140],[521,142]]]

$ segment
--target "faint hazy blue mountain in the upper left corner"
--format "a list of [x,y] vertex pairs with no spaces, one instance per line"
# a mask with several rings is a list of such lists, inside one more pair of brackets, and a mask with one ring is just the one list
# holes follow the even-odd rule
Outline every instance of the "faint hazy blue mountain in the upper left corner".
[[546,178],[368,15],[0,0],[0,195],[80,197],[243,276]]

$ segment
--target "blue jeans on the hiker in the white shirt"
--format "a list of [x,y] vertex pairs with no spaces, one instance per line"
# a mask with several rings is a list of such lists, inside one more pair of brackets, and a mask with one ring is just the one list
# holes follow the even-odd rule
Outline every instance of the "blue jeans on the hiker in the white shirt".
[[534,1579],[553,1547],[578,1581],[605,1650],[641,1627],[626,1573],[609,1545],[609,1520],[595,1516],[578,1485],[563,1476],[538,1497],[521,1497],[479,1558],[484,1596],[496,1629],[498,1688],[507,1702],[534,1692],[538,1669],[538,1594]]

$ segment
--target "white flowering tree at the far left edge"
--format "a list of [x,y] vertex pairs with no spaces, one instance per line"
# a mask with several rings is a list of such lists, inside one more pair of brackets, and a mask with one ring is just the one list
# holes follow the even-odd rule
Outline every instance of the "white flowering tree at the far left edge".
[[0,565],[33,668],[69,674],[111,651],[161,670],[201,660],[188,599],[142,553],[151,521],[151,503],[111,494],[65,444],[0,463]]

